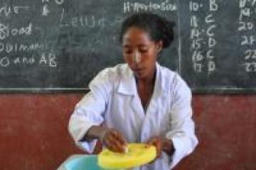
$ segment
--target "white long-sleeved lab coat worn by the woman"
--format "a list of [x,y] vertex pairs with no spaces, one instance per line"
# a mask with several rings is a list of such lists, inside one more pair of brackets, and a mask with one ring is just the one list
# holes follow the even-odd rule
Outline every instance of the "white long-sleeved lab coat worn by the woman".
[[100,124],[119,130],[127,142],[146,142],[159,135],[172,140],[174,154],[162,152],[155,162],[140,167],[143,170],[171,169],[198,144],[191,118],[191,90],[166,67],[156,63],[154,93],[146,113],[127,64],[104,69],[89,87],[90,92],[77,104],[69,123],[76,144],[87,152],[92,152],[96,140],[80,140],[92,125]]

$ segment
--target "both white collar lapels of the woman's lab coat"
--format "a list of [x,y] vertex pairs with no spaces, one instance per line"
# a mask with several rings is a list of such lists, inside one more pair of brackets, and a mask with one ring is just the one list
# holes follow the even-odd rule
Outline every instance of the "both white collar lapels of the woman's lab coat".
[[[166,84],[162,68],[158,62],[156,62],[156,82],[154,86],[154,93],[157,96],[166,96]],[[128,64],[125,64],[124,72],[122,72],[121,81],[117,92],[125,95],[135,95],[137,93],[137,87],[135,83],[134,74]]]

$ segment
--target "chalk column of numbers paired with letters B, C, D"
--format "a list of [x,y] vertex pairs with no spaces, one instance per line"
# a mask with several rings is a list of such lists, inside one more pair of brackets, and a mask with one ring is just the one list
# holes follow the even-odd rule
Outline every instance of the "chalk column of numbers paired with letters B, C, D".
[[[215,67],[215,56],[213,55],[213,49],[216,45],[215,33],[216,21],[214,18],[214,13],[218,12],[218,4],[216,1],[210,1],[209,12],[200,21],[198,14],[201,13],[200,9],[205,8],[204,4],[196,3],[193,1],[189,2],[189,9],[193,15],[191,15],[191,49],[192,49],[192,61],[193,69],[197,73],[201,72],[214,72]],[[201,24],[204,22],[205,24]],[[205,28],[200,28],[200,26],[206,26]],[[206,38],[203,38],[203,35]],[[204,47],[203,47],[204,46]],[[203,50],[206,50],[206,54],[203,55]]]

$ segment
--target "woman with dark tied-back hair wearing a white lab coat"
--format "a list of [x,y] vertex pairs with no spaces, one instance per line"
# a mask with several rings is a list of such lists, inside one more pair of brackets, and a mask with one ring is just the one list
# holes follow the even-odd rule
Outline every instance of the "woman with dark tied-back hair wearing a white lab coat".
[[[92,152],[97,140],[114,152],[130,142],[156,147],[154,162],[141,169],[173,168],[198,144],[191,118],[191,90],[156,60],[174,39],[173,23],[137,13],[122,24],[126,64],[104,69],[77,104],[69,130],[76,144]],[[139,168],[137,168],[139,169]]]

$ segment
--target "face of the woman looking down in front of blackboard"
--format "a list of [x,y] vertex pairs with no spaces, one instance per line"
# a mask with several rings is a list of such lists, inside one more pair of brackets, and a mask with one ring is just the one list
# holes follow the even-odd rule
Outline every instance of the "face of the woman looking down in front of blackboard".
[[125,62],[138,79],[150,79],[156,69],[156,58],[162,42],[154,42],[144,30],[131,27],[122,38]]

